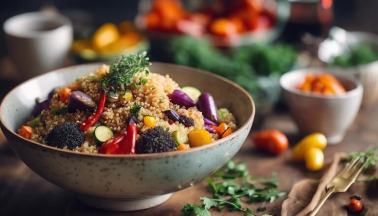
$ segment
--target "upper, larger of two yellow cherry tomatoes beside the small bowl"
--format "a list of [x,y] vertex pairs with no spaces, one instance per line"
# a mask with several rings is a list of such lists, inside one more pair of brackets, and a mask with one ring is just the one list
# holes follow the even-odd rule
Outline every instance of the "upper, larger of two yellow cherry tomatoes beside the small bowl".
[[327,138],[322,133],[312,133],[305,136],[294,147],[292,154],[294,160],[304,160],[305,152],[310,148],[323,150],[327,146]]

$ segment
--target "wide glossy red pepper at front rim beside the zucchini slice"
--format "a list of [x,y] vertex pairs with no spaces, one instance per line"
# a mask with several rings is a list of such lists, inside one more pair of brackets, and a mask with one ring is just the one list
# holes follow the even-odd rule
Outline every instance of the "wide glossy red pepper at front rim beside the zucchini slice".
[[101,145],[101,154],[135,154],[136,126],[130,124],[124,133],[115,135]]

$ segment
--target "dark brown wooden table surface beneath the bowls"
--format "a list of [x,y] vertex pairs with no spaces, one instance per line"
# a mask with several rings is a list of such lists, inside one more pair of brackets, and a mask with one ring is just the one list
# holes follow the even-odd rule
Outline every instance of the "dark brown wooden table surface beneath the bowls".
[[[263,128],[282,130],[287,134],[291,147],[300,138],[295,124],[287,113],[275,113],[269,116]],[[338,145],[328,146],[324,150],[326,159],[330,160],[336,152],[362,151],[369,145],[377,144],[377,128],[378,106],[361,110],[344,141]],[[2,134],[0,134],[0,143],[0,215],[180,216],[182,215],[180,210],[185,204],[200,204],[201,196],[211,195],[203,181],[174,193],[167,202],[155,208],[126,213],[101,211],[82,204],[72,192],[37,176],[12,152]],[[250,173],[254,175],[268,177],[272,172],[277,171],[281,182],[279,189],[284,191],[290,191],[292,185],[302,179],[319,178],[321,175],[321,172],[307,172],[302,163],[293,163],[290,160],[290,151],[280,156],[270,156],[254,149],[250,138],[234,159],[246,161]],[[264,213],[279,216],[285,198],[286,196],[281,197],[273,203],[244,205],[252,210],[263,205],[267,207]],[[224,216],[231,213],[226,210],[221,213],[212,211],[212,215]]]

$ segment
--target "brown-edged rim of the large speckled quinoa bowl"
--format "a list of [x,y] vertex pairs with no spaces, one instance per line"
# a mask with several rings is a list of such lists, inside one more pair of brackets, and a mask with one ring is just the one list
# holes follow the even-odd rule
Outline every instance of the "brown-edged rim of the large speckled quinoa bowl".
[[[100,65],[102,63],[105,63],[105,62],[86,63],[86,64],[78,64],[78,65],[63,67],[63,68],[59,68],[59,69],[56,69],[56,70],[53,70],[53,71],[50,71],[50,72],[47,72],[47,73],[35,76],[35,77],[33,77],[33,78],[29,79],[29,80],[26,80],[26,81],[22,82],[21,84],[17,85],[16,87],[14,87],[11,91],[9,91],[9,93],[7,93],[5,95],[5,97],[2,99],[1,104],[0,104],[0,113],[3,113],[3,112],[1,112],[1,110],[4,108],[4,106],[3,106],[4,103],[3,102],[5,101],[5,99],[13,91],[15,91],[16,89],[20,88],[24,84],[26,84],[28,82],[31,82],[34,79],[38,79],[39,77],[42,77],[42,76],[44,76],[46,74],[56,73],[56,72],[59,72],[59,71],[62,71],[62,70],[67,70],[67,69],[76,68],[76,67],[82,67],[82,66],[89,66],[89,65]],[[256,110],[254,102],[253,102],[253,99],[252,99],[251,95],[246,90],[244,90],[242,87],[240,87],[238,84],[236,84],[236,83],[234,83],[234,82],[232,82],[232,81],[230,81],[230,80],[228,80],[228,79],[226,79],[224,77],[221,77],[221,76],[219,76],[217,74],[213,74],[211,72],[208,72],[208,71],[205,71],[205,70],[201,70],[201,69],[197,69],[197,68],[193,68],[193,67],[189,67],[189,66],[178,65],[178,64],[171,64],[171,63],[163,63],[163,62],[152,62],[152,63],[153,64],[158,64],[158,65],[161,65],[161,66],[167,66],[167,67],[170,67],[170,68],[179,68],[179,69],[185,69],[185,70],[193,71],[193,72],[196,72],[196,73],[202,73],[202,74],[205,74],[205,75],[212,76],[212,77],[215,77],[217,79],[220,79],[221,81],[234,86],[236,89],[238,89],[239,91],[241,91],[242,93],[244,93],[245,96],[248,98],[249,102],[252,104],[252,114],[251,114],[251,116],[248,118],[248,120],[246,121],[246,123],[244,123],[242,126],[240,126],[235,132],[231,133],[230,135],[228,135],[225,138],[222,138],[222,139],[219,139],[219,140],[215,141],[214,143],[211,143],[211,144],[208,144],[208,145],[205,145],[205,146],[191,148],[191,149],[186,150],[186,151],[174,151],[174,152],[151,153],[151,154],[92,154],[92,153],[73,152],[73,151],[69,151],[69,150],[64,150],[64,149],[59,149],[59,148],[56,148],[56,147],[51,147],[51,146],[43,145],[41,143],[37,143],[37,142],[31,141],[31,140],[25,139],[24,137],[18,135],[17,133],[15,133],[11,129],[9,129],[7,126],[5,126],[5,124],[3,123],[3,119],[2,119],[1,116],[0,116],[0,124],[1,124],[2,128],[5,128],[6,130],[8,130],[9,133],[11,133],[12,135],[14,135],[17,138],[20,138],[20,139],[23,139],[23,140],[29,142],[30,144],[37,145],[37,146],[40,146],[42,148],[47,148],[47,149],[50,149],[50,150],[53,150],[53,151],[58,151],[58,152],[66,153],[66,154],[77,154],[77,155],[94,156],[94,157],[100,157],[100,158],[101,157],[105,157],[105,158],[106,157],[112,157],[112,158],[125,158],[125,157],[139,158],[139,157],[147,157],[147,158],[149,158],[149,157],[176,156],[176,155],[181,155],[181,154],[188,154],[188,153],[192,153],[192,152],[197,152],[197,151],[201,151],[201,150],[205,150],[205,149],[210,149],[210,148],[212,148],[212,147],[214,147],[216,145],[224,143],[225,141],[231,140],[234,137],[238,136],[243,130],[247,129],[247,127],[248,127],[249,124],[252,123],[254,115],[255,115],[255,110]]]

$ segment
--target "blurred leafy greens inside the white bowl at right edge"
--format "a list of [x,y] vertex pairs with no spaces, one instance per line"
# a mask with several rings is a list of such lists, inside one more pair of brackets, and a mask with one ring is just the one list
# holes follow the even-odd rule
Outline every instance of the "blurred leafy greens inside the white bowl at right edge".
[[333,64],[350,67],[360,64],[367,64],[378,60],[378,52],[366,43],[358,44],[338,57],[333,59]]

